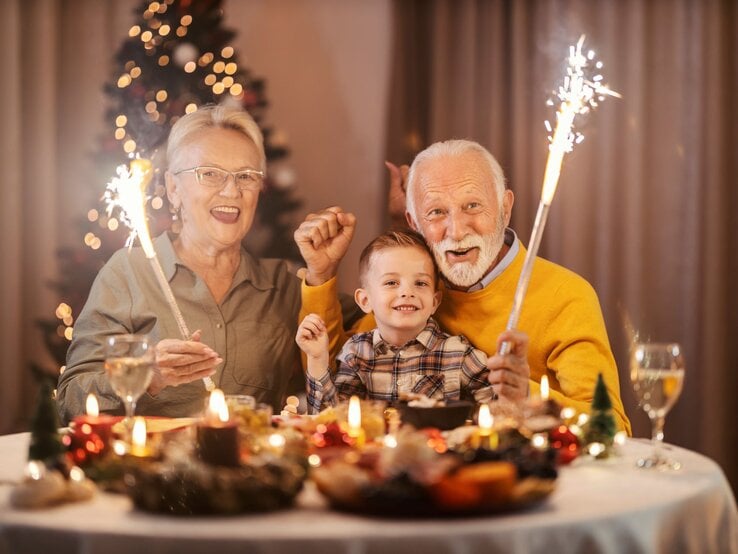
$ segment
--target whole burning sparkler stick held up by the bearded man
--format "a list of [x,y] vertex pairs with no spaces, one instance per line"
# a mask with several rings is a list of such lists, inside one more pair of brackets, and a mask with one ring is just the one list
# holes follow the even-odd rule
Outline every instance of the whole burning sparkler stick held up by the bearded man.
[[[597,102],[605,99],[605,96],[615,96],[620,98],[617,92],[610,90],[602,83],[602,75],[596,74],[589,77],[585,74],[586,69],[594,67],[595,70],[602,68],[602,62],[594,60],[594,52],[590,50],[586,54],[582,52],[584,45],[584,35],[579,38],[576,45],[569,47],[569,56],[567,59],[566,75],[564,82],[555,92],[556,97],[560,100],[559,109],[556,112],[556,129],[553,137],[549,136],[548,160],[546,161],[546,170],[543,175],[543,189],[541,190],[541,200],[538,203],[538,212],[533,223],[533,231],[528,245],[528,252],[525,255],[523,269],[520,272],[518,286],[515,290],[513,299],[513,307],[510,311],[510,317],[507,320],[507,329],[513,329],[518,324],[520,318],[520,310],[523,306],[525,293],[528,291],[530,275],[533,271],[533,262],[535,261],[538,247],[543,237],[543,229],[546,227],[546,218],[548,217],[548,209],[551,207],[556,187],[559,183],[559,175],[561,174],[561,164],[564,161],[564,155],[571,152],[574,144],[579,144],[584,140],[581,133],[574,131],[574,119],[577,115],[586,114],[591,109],[597,107]],[[553,105],[553,100],[549,100],[549,105]],[[551,131],[551,126],[546,121],[546,128]],[[500,354],[508,354],[510,352],[510,343],[503,342],[500,345]]]

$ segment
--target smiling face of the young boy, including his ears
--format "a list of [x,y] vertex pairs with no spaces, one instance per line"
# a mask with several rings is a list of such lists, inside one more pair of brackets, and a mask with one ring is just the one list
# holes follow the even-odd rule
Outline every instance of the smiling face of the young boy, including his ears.
[[375,252],[362,283],[356,303],[374,312],[382,338],[395,346],[414,339],[441,301],[433,261],[417,246]]

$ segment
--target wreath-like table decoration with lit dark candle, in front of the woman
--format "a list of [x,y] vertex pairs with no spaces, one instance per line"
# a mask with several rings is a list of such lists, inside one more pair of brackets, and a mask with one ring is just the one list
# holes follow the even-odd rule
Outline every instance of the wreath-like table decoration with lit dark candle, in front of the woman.
[[[212,394],[217,398],[217,389]],[[215,411],[221,409],[218,402],[213,402]],[[220,427],[224,418],[218,417],[218,423],[206,419],[197,426],[194,442],[189,433],[177,433],[162,448],[161,459],[127,468],[125,492],[136,508],[188,516],[262,512],[292,504],[307,476],[302,435],[273,429],[259,435],[257,443],[241,445],[236,455],[237,432],[228,431],[225,441],[217,442],[223,438],[221,429],[236,426]]]

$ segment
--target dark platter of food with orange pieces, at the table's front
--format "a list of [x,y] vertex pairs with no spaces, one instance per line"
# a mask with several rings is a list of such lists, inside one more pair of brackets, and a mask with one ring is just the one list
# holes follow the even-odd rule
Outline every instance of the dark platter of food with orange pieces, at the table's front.
[[349,452],[311,478],[339,510],[381,517],[454,517],[520,510],[556,486],[555,456],[529,445],[499,452],[435,449],[428,435],[402,429],[394,448]]

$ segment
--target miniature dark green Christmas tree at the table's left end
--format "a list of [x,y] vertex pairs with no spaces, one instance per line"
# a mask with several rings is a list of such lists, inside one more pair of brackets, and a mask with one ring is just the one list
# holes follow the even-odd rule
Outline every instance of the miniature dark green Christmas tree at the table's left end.
[[36,411],[31,419],[28,459],[41,461],[50,468],[58,467],[65,450],[59,435],[59,414],[52,397],[52,385],[45,380],[38,391]]

